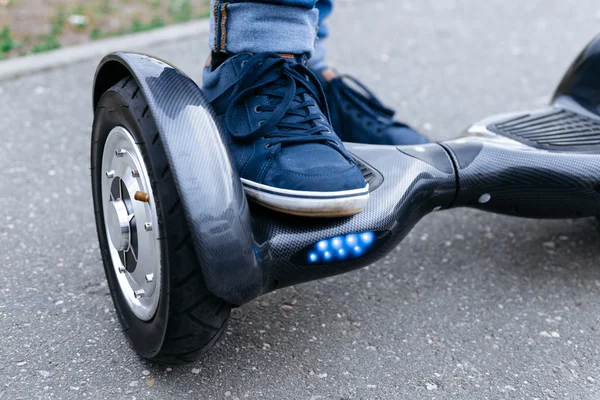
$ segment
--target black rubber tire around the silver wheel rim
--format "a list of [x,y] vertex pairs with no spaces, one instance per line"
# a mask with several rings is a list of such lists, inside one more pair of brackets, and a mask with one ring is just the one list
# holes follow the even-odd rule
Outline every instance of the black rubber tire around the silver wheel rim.
[[[104,144],[110,131],[126,128],[135,138],[148,168],[162,240],[162,290],[150,321],[129,309],[109,255],[101,202]],[[96,107],[92,131],[91,171],[96,228],[113,302],[135,350],[143,357],[181,364],[195,361],[219,339],[231,306],[208,292],[187,227],[169,162],[135,79],[128,77],[106,91]]]

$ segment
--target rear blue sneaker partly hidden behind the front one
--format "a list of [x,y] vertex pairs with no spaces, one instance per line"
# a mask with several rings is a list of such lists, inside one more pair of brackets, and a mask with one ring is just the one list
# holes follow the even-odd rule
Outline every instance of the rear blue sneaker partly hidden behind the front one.
[[356,79],[338,75],[331,68],[313,72],[325,91],[333,128],[343,141],[393,145],[429,142],[410,126],[395,121],[394,111]]

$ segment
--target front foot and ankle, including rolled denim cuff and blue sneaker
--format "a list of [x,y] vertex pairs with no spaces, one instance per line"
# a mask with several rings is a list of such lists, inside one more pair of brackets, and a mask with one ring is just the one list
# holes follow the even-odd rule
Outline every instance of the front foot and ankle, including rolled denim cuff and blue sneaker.
[[247,196],[304,216],[362,211],[369,188],[306,67],[316,0],[213,0],[203,91],[227,131]]

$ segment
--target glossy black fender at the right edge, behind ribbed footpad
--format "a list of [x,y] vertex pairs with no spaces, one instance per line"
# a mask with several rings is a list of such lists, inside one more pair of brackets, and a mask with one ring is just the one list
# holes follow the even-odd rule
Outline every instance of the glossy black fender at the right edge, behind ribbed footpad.
[[[552,96],[552,104],[596,117],[600,115],[600,35],[573,61]],[[591,115],[590,115],[591,114]]]

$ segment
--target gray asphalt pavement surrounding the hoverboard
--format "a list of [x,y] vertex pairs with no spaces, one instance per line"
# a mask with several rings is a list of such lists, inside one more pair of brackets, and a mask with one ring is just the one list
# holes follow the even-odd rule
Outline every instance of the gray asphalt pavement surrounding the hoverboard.
[[[332,23],[332,63],[445,139],[545,104],[600,5],[346,0]],[[207,55],[205,37],[137,50],[195,78]],[[369,268],[235,310],[200,362],[141,360],[95,236],[95,66],[0,83],[0,399],[600,398],[595,221],[462,209],[427,217]]]

